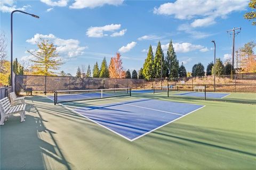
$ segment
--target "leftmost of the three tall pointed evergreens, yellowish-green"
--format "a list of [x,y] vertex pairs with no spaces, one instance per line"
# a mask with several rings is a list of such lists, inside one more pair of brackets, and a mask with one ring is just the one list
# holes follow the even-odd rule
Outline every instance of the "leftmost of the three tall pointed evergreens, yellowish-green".
[[148,49],[148,56],[145,60],[145,63],[143,64],[143,70],[141,74],[145,79],[149,80],[150,78],[154,78],[154,70],[153,70],[153,63],[154,63],[154,54],[152,50],[152,46],[149,46]]

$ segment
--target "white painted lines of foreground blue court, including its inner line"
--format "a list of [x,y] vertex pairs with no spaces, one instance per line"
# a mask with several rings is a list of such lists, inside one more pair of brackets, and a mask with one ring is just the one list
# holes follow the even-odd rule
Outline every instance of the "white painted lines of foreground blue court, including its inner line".
[[[47,97],[47,98],[48,98],[48,97]],[[50,98],[49,98],[49,99],[50,99]],[[142,99],[145,99],[145,98],[142,98]],[[52,99],[51,99],[51,100],[52,100]],[[156,99],[153,99],[153,100],[156,100]],[[131,101],[140,101],[140,100],[131,100]],[[143,100],[142,100],[142,101],[143,101]],[[158,101],[161,101],[161,100],[158,100]],[[122,102],[117,102],[117,103],[122,103]],[[180,102],[176,102],[176,103],[180,103]],[[142,136],[145,136],[145,135],[147,135],[147,134],[149,134],[149,133],[151,133],[151,132],[153,132],[153,131],[156,131],[156,129],[158,129],[158,128],[161,128],[161,127],[163,127],[163,126],[165,126],[165,125],[168,125],[168,124],[170,124],[170,123],[172,123],[172,122],[174,122],[174,121],[176,121],[176,120],[178,120],[178,119],[180,119],[180,118],[182,118],[182,117],[185,117],[185,116],[187,116],[187,115],[193,113],[194,111],[197,111],[197,110],[202,109],[202,108],[205,107],[205,106],[202,106],[201,108],[198,108],[198,109],[196,109],[196,110],[193,110],[193,111],[189,112],[189,113],[186,114],[186,115],[182,115],[181,117],[178,117],[177,119],[174,119],[174,120],[172,120],[171,122],[168,122],[168,123],[166,123],[166,124],[164,124],[164,125],[158,126],[158,127],[154,128],[154,129],[152,129],[151,131],[148,131],[148,132],[146,132],[146,133],[143,133],[142,135],[137,136],[137,137],[135,137],[135,138],[133,138],[133,139],[129,139],[128,137],[126,137],[126,136],[124,136],[124,135],[122,135],[122,134],[119,134],[118,132],[115,132],[115,131],[113,131],[112,129],[110,129],[110,128],[104,126],[104,125],[101,125],[101,124],[98,123],[98,122],[95,122],[94,120],[90,119],[89,117],[84,116],[84,115],[80,114],[79,112],[77,112],[77,111],[75,111],[75,110],[73,110],[73,109],[71,109],[71,108],[69,108],[69,107],[67,107],[67,106],[65,106],[65,105],[63,105],[63,104],[61,104],[61,103],[57,103],[57,104],[60,104],[61,106],[65,107],[66,109],[68,109],[68,110],[70,110],[70,111],[73,111],[73,112],[75,112],[76,114],[78,114],[78,115],[80,115],[80,116],[82,116],[82,117],[85,117],[86,119],[91,120],[93,123],[95,123],[95,124],[97,124],[97,125],[100,125],[101,127],[104,127],[104,128],[106,128],[106,129],[108,129],[109,131],[111,131],[111,132],[113,132],[113,133],[115,133],[115,134],[117,134],[117,135],[123,137],[123,138],[126,139],[126,140],[129,140],[130,142],[133,142],[133,141],[139,139],[139,138],[142,137]],[[116,103],[111,103],[111,104],[116,104]],[[125,103],[123,103],[123,104],[125,104]],[[188,103],[188,104],[190,104],[190,103]],[[127,105],[134,106],[134,105],[132,105],[132,104],[127,104]],[[197,105],[199,105],[199,104],[197,104]],[[134,107],[138,107],[138,106],[134,106]],[[141,108],[144,108],[144,107],[141,107]],[[150,108],[146,108],[146,109],[150,109]],[[152,109],[152,110],[155,110],[155,109]],[[161,111],[161,110],[156,110],[156,111]],[[162,112],[166,112],[166,111],[162,111]],[[174,113],[171,113],[171,112],[167,112],[167,113],[169,113],[169,114],[174,114]],[[180,114],[175,114],[175,115],[180,115]]]

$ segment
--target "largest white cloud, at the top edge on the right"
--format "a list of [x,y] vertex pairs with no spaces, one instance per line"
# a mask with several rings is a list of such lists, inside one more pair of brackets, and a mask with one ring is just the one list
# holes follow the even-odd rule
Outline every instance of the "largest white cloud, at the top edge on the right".
[[[173,3],[164,3],[154,8],[155,14],[174,15],[177,19],[193,19],[191,23],[193,27],[203,27],[213,25],[215,18],[227,18],[227,15],[235,11],[243,11],[248,5],[247,0],[240,1],[184,1],[177,0]],[[203,18],[203,19],[202,19]]]

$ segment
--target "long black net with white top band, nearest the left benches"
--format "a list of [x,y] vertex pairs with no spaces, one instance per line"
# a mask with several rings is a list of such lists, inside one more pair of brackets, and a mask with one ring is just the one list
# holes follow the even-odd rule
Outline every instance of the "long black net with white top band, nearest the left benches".
[[54,104],[82,100],[131,96],[131,88],[108,88],[97,90],[63,90],[54,91]]

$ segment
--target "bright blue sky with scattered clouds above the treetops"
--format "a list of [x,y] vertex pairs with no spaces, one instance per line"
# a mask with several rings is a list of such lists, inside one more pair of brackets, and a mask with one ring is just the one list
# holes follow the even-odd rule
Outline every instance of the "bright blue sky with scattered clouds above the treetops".
[[[40,37],[50,39],[65,64],[60,68],[75,75],[82,64],[91,68],[106,56],[120,52],[124,69],[139,70],[149,45],[161,41],[164,55],[170,40],[179,62],[187,71],[195,63],[231,56],[232,37],[227,30],[242,27],[235,50],[255,41],[256,27],[243,18],[250,11],[248,1],[122,1],[122,0],[41,0],[0,2],[1,31],[6,35],[10,60],[10,12],[18,9],[39,15],[40,19],[14,13],[13,56],[29,64],[27,50],[36,49]],[[59,71],[60,71],[59,70]]]

